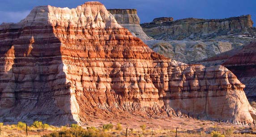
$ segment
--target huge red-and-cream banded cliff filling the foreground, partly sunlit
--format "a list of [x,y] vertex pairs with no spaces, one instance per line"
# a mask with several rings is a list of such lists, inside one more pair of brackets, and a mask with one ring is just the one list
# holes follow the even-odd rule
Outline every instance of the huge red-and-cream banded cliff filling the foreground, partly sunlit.
[[0,121],[84,123],[111,113],[252,123],[244,85],[223,66],[166,58],[99,2],[40,6],[0,25]]

